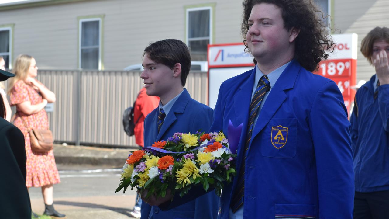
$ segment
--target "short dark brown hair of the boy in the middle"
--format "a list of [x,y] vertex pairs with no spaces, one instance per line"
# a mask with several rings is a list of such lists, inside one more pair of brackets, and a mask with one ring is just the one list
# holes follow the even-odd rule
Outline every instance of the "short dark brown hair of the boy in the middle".
[[191,69],[191,54],[186,44],[178,39],[165,39],[150,43],[144,50],[154,62],[161,63],[173,69],[174,65],[181,64],[181,84],[185,86],[186,78]]

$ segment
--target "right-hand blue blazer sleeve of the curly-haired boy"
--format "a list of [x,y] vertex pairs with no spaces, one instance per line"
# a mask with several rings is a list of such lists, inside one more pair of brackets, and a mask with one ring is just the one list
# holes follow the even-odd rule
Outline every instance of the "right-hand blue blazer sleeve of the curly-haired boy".
[[319,217],[352,219],[354,170],[350,124],[342,94],[333,81],[317,92],[309,126],[317,166]]

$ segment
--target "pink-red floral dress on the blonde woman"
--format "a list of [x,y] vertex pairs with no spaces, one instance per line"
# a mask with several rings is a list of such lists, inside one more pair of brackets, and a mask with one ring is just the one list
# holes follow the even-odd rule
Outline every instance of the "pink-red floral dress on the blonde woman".
[[[37,90],[27,85],[24,81],[19,80],[11,90],[10,101],[11,106],[13,106],[25,101],[30,101],[32,105],[35,105],[43,100]],[[55,164],[53,150],[49,152],[33,152],[30,145],[30,134],[21,120],[23,118],[30,128],[49,129],[46,111],[42,109],[32,115],[26,115],[16,106],[16,112],[14,125],[23,132],[26,143],[26,186],[42,187],[43,185],[60,183],[60,175]]]

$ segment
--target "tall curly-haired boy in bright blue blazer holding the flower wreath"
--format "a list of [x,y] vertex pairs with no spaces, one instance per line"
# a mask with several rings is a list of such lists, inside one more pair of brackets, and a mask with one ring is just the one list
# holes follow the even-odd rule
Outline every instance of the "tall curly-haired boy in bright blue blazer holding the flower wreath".
[[[256,67],[224,81],[210,128],[228,134],[229,121],[243,125],[220,218],[352,219],[347,109],[336,83],[311,72],[334,46],[324,22],[311,0],[243,6],[244,43]],[[169,207],[185,201],[174,200]]]

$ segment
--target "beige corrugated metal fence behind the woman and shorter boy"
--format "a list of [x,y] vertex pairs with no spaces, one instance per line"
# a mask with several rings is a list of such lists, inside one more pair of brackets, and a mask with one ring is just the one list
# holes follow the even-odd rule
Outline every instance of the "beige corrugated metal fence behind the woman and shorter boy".
[[[56,94],[50,129],[57,142],[81,145],[135,145],[123,131],[124,109],[143,86],[141,72],[39,70],[37,79]],[[186,88],[207,104],[207,72],[190,72]],[[14,109],[13,109],[14,111]]]

